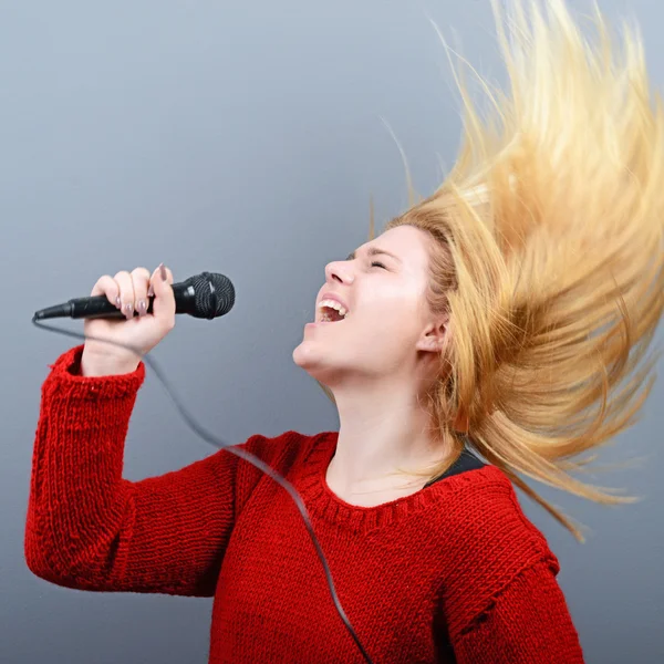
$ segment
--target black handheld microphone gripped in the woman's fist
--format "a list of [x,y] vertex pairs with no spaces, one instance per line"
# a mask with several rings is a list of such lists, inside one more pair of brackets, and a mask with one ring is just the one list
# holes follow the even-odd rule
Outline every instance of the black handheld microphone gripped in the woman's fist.
[[[175,313],[212,320],[228,313],[235,304],[235,288],[228,277],[216,272],[201,272],[172,286]],[[147,313],[152,313],[154,297],[148,298]],[[135,311],[134,315],[138,315]],[[106,295],[74,298],[63,304],[48,307],[34,313],[33,320],[52,318],[124,319],[125,315]]]

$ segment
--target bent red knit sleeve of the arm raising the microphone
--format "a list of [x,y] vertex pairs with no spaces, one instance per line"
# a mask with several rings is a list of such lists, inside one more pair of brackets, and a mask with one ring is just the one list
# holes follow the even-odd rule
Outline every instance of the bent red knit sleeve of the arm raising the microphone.
[[[29,569],[79,590],[214,595],[240,504],[261,473],[221,449],[159,477],[123,479],[145,367],[82,376],[81,354],[77,346],[61,355],[42,385],[24,537]],[[279,443],[253,436],[243,447],[270,463]]]

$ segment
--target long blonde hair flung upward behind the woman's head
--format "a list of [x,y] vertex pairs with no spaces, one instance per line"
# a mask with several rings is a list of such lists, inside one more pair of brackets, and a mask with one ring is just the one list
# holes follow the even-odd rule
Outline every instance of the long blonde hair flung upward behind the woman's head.
[[[595,44],[562,0],[491,1],[508,93],[481,86],[465,110],[456,165],[391,220],[434,242],[433,311],[448,312],[434,429],[468,440],[580,541],[517,473],[611,505],[633,501],[574,478],[636,421],[654,381],[647,351],[664,308],[664,118],[637,29],[616,48],[595,7]],[[525,7],[527,4],[527,7]],[[478,79],[479,80],[479,79]]]

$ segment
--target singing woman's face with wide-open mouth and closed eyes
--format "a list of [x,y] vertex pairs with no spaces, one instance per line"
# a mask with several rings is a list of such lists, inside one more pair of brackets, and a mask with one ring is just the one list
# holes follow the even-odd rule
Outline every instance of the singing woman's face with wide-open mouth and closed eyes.
[[[295,364],[333,387],[363,378],[415,373],[418,351],[439,351],[440,329],[428,311],[429,237],[393,228],[325,268],[315,321],[293,351]],[[341,312],[321,308],[339,301]],[[345,310],[345,318],[340,313]],[[334,318],[334,322],[325,322]]]

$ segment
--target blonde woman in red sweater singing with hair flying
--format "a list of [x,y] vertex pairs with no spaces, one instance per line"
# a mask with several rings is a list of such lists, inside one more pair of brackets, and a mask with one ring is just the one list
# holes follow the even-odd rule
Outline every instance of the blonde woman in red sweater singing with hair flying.
[[[599,18],[593,50],[548,6],[516,11],[508,35],[499,22],[510,94],[483,123],[464,93],[465,146],[440,188],[326,267],[293,359],[333,397],[339,432],[245,443],[302,497],[376,664],[582,662],[558,561],[515,485],[580,532],[517,473],[626,500],[570,471],[650,388],[664,122],[637,38],[615,56]],[[172,283],[163,266],[102,277],[92,293],[127,321],[86,321],[86,335],[148,352],[174,325]],[[139,356],[91,340],[52,366],[30,569],[84,590],[214,595],[210,662],[363,661],[269,477],[220,450],[122,478],[143,378]]]

